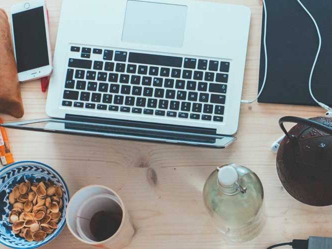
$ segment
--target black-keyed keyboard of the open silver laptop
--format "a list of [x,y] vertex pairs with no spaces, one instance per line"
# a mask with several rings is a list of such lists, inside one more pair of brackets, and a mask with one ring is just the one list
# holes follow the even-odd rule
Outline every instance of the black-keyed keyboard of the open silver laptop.
[[229,61],[69,48],[62,106],[224,121]]

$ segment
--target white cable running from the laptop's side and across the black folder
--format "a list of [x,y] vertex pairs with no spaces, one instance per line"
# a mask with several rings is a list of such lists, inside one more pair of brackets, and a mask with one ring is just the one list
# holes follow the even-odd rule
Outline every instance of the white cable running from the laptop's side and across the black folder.
[[[321,35],[320,35],[320,31],[319,31],[319,27],[317,25],[316,20],[313,18],[313,16],[311,15],[311,13],[307,10],[307,8],[303,5],[303,3],[300,0],[297,0],[297,2],[301,5],[301,7],[304,9],[304,11],[310,16],[317,34],[318,34],[318,49],[317,49],[317,53],[316,56],[314,58],[312,67],[311,67],[311,71],[310,71],[310,77],[309,77],[309,92],[310,95],[312,97],[312,99],[322,108],[324,108],[325,110],[327,110],[327,112],[325,113],[326,116],[332,116],[332,108],[330,108],[327,104],[324,104],[320,101],[318,101],[315,96],[312,93],[312,89],[311,89],[311,80],[312,80],[312,75],[313,75],[313,71],[314,68],[316,66],[317,60],[318,60],[318,56],[320,53],[320,49],[321,49]],[[241,103],[252,103],[254,101],[256,101],[258,99],[258,97],[260,96],[261,92],[263,91],[263,88],[265,86],[265,82],[266,82],[266,76],[267,76],[267,51],[266,51],[266,24],[267,24],[267,11],[266,11],[266,4],[265,4],[265,0],[263,0],[263,7],[264,7],[264,14],[265,14],[265,18],[264,18],[264,36],[263,36],[263,42],[264,42],[264,52],[265,52],[265,72],[264,72],[264,79],[263,79],[263,83],[261,85],[260,91],[258,92],[258,95],[253,99],[253,100],[241,100]]]

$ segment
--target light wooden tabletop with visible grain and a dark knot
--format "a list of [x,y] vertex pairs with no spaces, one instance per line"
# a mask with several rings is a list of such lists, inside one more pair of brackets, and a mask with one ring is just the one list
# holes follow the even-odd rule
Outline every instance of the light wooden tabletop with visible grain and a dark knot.
[[[1,0],[9,7],[20,0]],[[243,98],[257,92],[262,3],[260,0],[218,0],[251,8],[251,26]],[[47,0],[51,45],[54,48],[61,0]],[[46,117],[46,94],[40,82],[22,84],[25,115]],[[253,103],[242,105],[237,141],[230,147],[208,149],[49,134],[8,129],[15,160],[37,160],[54,167],[71,194],[88,184],[116,190],[133,217],[136,233],[129,249],[263,249],[275,242],[309,235],[332,234],[332,208],[311,207],[293,199],[282,187],[271,143],[282,133],[278,119],[284,115],[322,115],[318,107]],[[1,114],[5,121],[15,119]],[[265,191],[267,222],[254,240],[225,241],[213,227],[202,202],[202,187],[209,173],[226,163],[255,171]],[[4,246],[0,246],[3,248]],[[91,248],[65,228],[44,248]]]

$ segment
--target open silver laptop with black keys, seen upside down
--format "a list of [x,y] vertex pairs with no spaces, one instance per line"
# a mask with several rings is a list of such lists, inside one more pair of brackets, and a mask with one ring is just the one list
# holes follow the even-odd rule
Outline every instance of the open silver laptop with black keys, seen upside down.
[[5,127],[224,148],[238,127],[250,9],[63,0],[46,113]]

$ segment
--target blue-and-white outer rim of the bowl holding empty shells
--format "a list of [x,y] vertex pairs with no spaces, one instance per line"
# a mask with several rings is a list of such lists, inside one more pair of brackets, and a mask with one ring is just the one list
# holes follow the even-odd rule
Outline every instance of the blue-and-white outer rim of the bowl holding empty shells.
[[[39,162],[39,161],[17,161],[17,162],[11,163],[11,164],[9,164],[9,165],[4,166],[3,168],[1,168],[0,169],[0,175],[2,174],[3,171],[10,170],[10,167],[15,166],[16,164],[23,164],[23,163],[39,164],[39,165],[41,165],[43,167],[46,167],[46,168],[50,169],[51,171],[53,171],[55,173],[55,175],[57,177],[59,177],[59,179],[63,182],[63,186],[64,186],[64,188],[65,188],[65,190],[67,192],[67,195],[68,195],[67,199],[68,199],[68,202],[69,202],[69,196],[70,196],[69,189],[68,189],[67,184],[65,183],[64,179],[62,178],[62,176],[54,168],[52,168],[51,166],[46,165],[45,163],[42,163],[42,162]],[[66,206],[67,205],[68,205],[68,203],[66,203]],[[63,220],[62,225],[57,228],[56,232],[54,232],[54,233],[51,234],[52,236],[51,236],[51,238],[49,240],[44,241],[44,242],[42,242],[40,244],[32,245],[32,246],[29,246],[29,247],[24,247],[24,249],[33,249],[33,248],[37,248],[37,247],[43,246],[43,245],[49,243],[50,241],[52,241],[54,238],[56,238],[60,234],[60,232],[63,230],[63,228],[64,228],[64,226],[66,224],[65,215],[63,216],[63,219],[64,220]],[[22,248],[22,247],[15,247],[15,246],[8,245],[8,244],[6,244],[5,242],[3,242],[1,240],[0,240],[0,243],[3,244],[3,245],[5,245],[5,246],[9,246],[11,248],[14,248],[14,249],[21,249]]]

